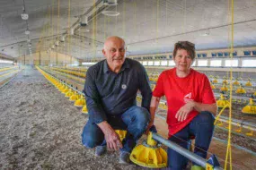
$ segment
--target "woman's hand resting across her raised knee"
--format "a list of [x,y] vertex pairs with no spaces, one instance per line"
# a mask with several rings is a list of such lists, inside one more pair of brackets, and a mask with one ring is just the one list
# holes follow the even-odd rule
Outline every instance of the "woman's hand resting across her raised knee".
[[179,122],[186,120],[194,106],[194,101],[187,101],[187,103],[184,106],[181,106],[181,108],[178,110],[175,118],[178,119]]

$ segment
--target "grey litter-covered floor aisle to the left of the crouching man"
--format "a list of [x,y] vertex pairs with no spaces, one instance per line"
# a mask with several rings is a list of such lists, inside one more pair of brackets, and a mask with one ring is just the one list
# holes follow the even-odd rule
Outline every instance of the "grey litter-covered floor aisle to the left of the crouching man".
[[87,121],[43,75],[31,66],[0,89],[0,169],[134,169],[116,154],[101,158],[84,149]]

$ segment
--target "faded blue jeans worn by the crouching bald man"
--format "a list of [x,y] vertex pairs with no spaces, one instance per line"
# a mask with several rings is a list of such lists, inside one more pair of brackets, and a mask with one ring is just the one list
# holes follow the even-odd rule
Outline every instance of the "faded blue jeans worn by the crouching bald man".
[[[121,115],[108,115],[107,122],[114,130],[127,130],[127,135],[122,141],[121,151],[131,152],[136,146],[137,140],[146,131],[150,121],[150,114],[144,107],[131,106]],[[82,143],[86,148],[106,145],[104,134],[96,123],[89,121],[84,126],[82,133]]]

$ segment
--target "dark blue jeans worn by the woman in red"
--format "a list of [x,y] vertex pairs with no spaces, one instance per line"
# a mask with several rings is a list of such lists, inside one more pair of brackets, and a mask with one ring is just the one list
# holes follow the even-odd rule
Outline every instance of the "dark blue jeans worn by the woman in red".
[[[190,137],[195,136],[194,153],[199,157],[207,158],[213,132],[215,118],[210,112],[201,112],[180,132],[174,134],[169,140],[177,143],[185,149],[190,148]],[[168,167],[172,170],[185,169],[188,158],[181,156],[172,149],[168,149]],[[194,164],[194,163],[193,163]]]

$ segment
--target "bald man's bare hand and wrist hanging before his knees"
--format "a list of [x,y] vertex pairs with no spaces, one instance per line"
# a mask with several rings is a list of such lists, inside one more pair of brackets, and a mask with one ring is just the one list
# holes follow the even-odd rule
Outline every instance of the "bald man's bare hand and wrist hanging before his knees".
[[115,132],[115,130],[113,130],[109,123],[104,121],[102,123],[98,123],[97,125],[101,128],[102,132],[104,133],[108,149],[119,150],[123,148],[122,142],[119,139],[119,135]]

